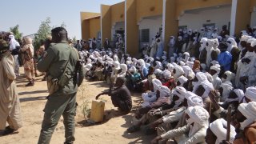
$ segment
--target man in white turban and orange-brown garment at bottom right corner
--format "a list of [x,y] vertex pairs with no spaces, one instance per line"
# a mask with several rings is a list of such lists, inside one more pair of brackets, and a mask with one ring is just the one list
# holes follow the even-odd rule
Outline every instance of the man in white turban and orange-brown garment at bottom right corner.
[[241,103],[235,119],[240,123],[242,138],[234,140],[234,144],[256,142],[256,102]]

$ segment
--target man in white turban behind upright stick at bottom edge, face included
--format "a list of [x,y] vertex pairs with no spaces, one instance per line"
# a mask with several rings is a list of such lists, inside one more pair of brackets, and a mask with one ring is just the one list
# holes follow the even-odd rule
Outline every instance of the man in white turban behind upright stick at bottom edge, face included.
[[[226,141],[227,133],[227,122],[225,119],[220,118],[210,123],[210,127],[206,132],[206,143],[207,144],[219,144],[222,141]],[[230,125],[230,140],[229,142],[233,143],[235,135],[234,126]]]

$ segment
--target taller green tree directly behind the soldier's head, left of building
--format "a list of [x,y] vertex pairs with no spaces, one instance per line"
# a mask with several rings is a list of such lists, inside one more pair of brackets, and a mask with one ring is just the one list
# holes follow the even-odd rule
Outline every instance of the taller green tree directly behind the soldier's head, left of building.
[[46,40],[47,36],[50,35],[50,18],[47,17],[45,21],[41,22],[41,25],[39,26],[38,34],[36,34],[34,38],[34,47],[35,49],[38,49],[38,47],[41,45],[41,41]]

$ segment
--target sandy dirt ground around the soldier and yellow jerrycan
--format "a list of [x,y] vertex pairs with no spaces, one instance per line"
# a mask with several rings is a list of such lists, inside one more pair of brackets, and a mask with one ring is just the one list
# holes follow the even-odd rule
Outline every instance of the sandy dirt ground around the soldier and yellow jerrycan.
[[[21,68],[22,70],[22,68]],[[47,88],[46,82],[41,81],[42,77],[37,77],[34,86],[26,87],[26,78],[21,74],[17,78],[18,94],[21,102],[23,127],[18,130],[18,134],[11,134],[0,137],[1,144],[34,144],[38,142],[41,130],[43,108],[46,104]],[[102,96],[105,103],[105,122],[88,126],[84,118],[83,107],[90,109],[91,101],[97,94],[106,90],[106,82],[87,82],[84,81],[77,94],[78,110],[76,119],[76,129],[74,143],[150,143],[154,135],[146,136],[142,130],[133,134],[126,133],[126,129],[131,126],[133,112],[120,115],[118,110],[112,106],[111,100],[107,95]],[[140,94],[132,94],[134,109],[140,102]],[[51,138],[53,144],[63,143],[64,126],[63,119],[58,122],[54,134]]]

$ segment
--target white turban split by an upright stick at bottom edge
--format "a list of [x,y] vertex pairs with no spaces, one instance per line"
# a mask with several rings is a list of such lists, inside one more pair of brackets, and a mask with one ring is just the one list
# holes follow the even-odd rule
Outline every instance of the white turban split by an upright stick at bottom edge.
[[[223,140],[226,140],[226,132],[227,132],[227,122],[223,118],[217,119],[214,122],[210,123],[210,130],[217,137],[216,144],[221,143]],[[234,126],[230,125],[230,141],[233,143],[236,132]]]

